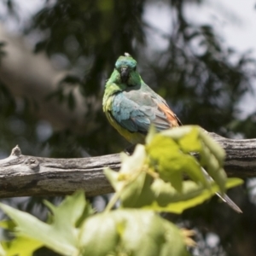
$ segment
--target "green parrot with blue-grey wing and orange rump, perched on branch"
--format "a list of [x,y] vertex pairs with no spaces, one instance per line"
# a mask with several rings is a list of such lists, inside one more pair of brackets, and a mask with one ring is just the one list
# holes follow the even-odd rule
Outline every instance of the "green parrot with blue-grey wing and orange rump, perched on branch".
[[[109,123],[134,145],[145,143],[151,125],[156,131],[182,125],[166,101],[144,83],[137,72],[137,61],[128,53],[115,62],[113,73],[105,84],[102,108]],[[203,168],[202,171],[208,175]],[[241,213],[228,195],[216,195]]]

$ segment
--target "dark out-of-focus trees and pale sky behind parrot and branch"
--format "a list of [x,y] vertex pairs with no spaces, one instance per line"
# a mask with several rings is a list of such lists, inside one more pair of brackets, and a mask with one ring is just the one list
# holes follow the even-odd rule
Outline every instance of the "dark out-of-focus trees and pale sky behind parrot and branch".
[[[0,0],[0,158],[16,144],[22,154],[61,158],[127,148],[102,113],[105,81],[125,52],[184,125],[255,138],[255,5],[253,0]],[[241,215],[213,198],[182,216],[168,216],[198,231],[193,255],[256,255],[255,186],[251,178],[229,192]],[[106,200],[91,199],[95,206]],[[2,201],[46,216],[43,198]]]

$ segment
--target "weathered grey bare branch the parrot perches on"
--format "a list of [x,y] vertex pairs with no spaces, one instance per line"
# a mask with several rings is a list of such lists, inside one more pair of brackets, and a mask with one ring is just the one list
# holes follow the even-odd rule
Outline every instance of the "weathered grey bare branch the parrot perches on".
[[[230,177],[256,176],[256,139],[231,140],[210,135],[227,153],[224,168]],[[119,154],[80,159],[50,159],[22,155],[16,146],[0,160],[0,197],[67,195],[84,189],[86,195],[113,192],[103,174],[104,167],[118,171]]]

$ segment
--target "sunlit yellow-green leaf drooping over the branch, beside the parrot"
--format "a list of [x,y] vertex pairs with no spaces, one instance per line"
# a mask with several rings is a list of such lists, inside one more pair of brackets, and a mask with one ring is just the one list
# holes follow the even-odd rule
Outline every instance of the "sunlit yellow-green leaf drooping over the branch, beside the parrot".
[[[205,166],[209,176],[218,184],[220,192],[224,193],[227,178],[222,168],[224,149],[199,126],[189,125],[162,131],[151,138],[146,148],[154,169],[178,191],[181,192],[182,185],[180,177],[174,172],[184,172],[196,183],[207,186],[209,178],[199,170]],[[200,155],[198,165],[189,156],[191,152]]]

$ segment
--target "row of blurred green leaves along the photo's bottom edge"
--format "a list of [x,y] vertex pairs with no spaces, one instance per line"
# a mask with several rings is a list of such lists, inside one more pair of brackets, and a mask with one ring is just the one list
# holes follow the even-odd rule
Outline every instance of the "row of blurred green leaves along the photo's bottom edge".
[[[189,237],[152,211],[120,209],[82,215],[80,210],[89,207],[82,191],[68,196],[53,211],[52,224],[44,224],[6,205],[1,207],[19,230],[14,241],[3,243],[6,250],[3,255],[28,256],[43,245],[61,255],[188,255],[184,243]],[[73,207],[72,212],[69,207]],[[72,221],[67,221],[67,213]]]

